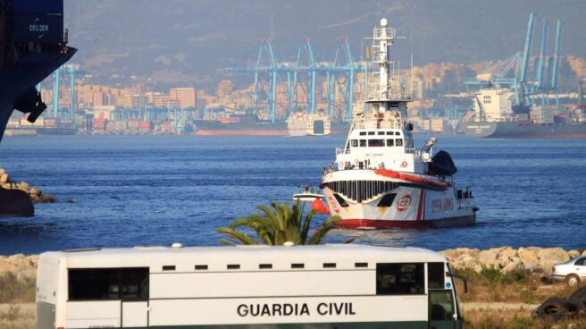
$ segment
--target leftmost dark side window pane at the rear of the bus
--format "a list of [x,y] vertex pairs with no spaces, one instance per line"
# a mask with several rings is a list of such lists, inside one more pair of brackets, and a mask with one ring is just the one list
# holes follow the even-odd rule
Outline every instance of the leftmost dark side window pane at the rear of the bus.
[[120,299],[118,268],[70,269],[69,300]]

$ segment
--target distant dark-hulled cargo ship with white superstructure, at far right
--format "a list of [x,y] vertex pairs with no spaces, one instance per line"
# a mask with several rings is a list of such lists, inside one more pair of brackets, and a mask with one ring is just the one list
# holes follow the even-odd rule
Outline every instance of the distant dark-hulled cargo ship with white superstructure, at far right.
[[474,112],[459,131],[489,139],[586,138],[583,109],[563,106],[514,106],[508,89],[480,89],[473,95]]

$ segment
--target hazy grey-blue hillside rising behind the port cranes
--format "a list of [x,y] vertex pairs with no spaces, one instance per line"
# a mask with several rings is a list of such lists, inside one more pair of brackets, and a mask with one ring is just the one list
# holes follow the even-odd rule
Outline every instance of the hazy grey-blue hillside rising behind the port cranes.
[[[550,46],[555,20],[565,21],[564,53],[586,57],[581,27],[586,2],[534,0],[413,2],[350,0],[66,0],[75,61],[97,81],[155,85],[209,85],[218,69],[255,60],[261,38],[272,38],[279,58],[293,60],[300,38],[310,37],[318,57],[331,59],[347,36],[358,56],[363,37],[381,17],[413,36],[416,64],[478,63],[506,58],[523,47],[529,13],[547,14]],[[523,4],[520,4],[523,3]],[[543,18],[538,16],[538,23]],[[536,28],[539,38],[540,25]],[[410,41],[398,46],[408,58]],[[535,51],[539,39],[534,45]]]

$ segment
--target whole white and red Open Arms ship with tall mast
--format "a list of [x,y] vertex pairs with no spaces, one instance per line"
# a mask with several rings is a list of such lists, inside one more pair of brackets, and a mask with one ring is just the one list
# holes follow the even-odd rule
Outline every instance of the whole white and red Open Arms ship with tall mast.
[[372,110],[354,118],[346,144],[336,150],[337,168],[331,164],[322,177],[328,212],[341,216],[337,225],[358,229],[474,224],[478,208],[472,191],[456,188],[457,170],[448,152],[432,156],[435,138],[414,148],[406,116],[411,97],[400,77],[390,76],[389,47],[395,39],[395,30],[382,19],[373,33],[373,82],[366,98]]

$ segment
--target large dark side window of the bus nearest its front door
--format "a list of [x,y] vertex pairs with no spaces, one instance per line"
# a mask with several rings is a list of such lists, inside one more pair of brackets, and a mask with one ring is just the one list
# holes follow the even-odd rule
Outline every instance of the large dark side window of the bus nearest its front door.
[[423,263],[377,264],[377,295],[421,295],[424,293]]

